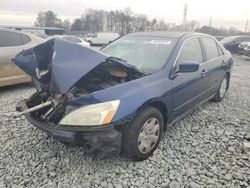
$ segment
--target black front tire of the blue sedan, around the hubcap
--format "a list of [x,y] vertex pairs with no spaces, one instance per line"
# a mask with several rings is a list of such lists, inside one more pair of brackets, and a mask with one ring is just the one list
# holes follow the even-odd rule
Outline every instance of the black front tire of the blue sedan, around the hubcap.
[[[152,149],[147,153],[142,153],[139,150],[138,136],[141,133],[143,125],[150,121],[151,119],[157,119],[159,125],[159,132],[157,134],[157,142],[150,144]],[[160,139],[162,137],[164,130],[163,117],[161,112],[154,107],[147,107],[135,118],[135,120],[123,131],[123,140],[122,140],[122,154],[129,158],[132,158],[135,161],[142,161],[147,159],[159,145]],[[152,141],[152,140],[151,140]]]

